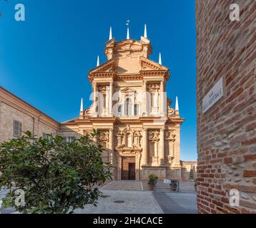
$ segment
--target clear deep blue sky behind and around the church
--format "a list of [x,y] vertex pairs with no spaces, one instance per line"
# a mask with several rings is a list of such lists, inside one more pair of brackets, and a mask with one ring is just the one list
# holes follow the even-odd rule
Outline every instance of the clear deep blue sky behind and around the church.
[[[150,59],[171,71],[167,95],[179,97],[181,159],[196,160],[195,1],[0,0],[0,85],[58,121],[89,106],[87,72],[106,61],[109,26],[119,41],[139,39],[147,24]],[[14,6],[26,7],[26,21],[14,20]]]

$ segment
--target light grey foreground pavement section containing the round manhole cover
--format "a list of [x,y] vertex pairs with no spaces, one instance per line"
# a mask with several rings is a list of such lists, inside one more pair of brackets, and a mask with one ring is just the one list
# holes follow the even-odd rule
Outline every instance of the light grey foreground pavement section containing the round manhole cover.
[[77,209],[76,214],[162,214],[162,209],[154,199],[152,192],[102,190],[105,198],[98,200],[98,206],[88,204]]

